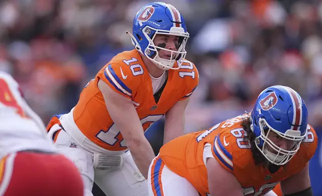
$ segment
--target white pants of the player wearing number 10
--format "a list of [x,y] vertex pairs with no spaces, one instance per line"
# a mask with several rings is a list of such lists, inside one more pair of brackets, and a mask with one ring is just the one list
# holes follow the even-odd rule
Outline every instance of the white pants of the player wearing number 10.
[[54,145],[59,153],[67,156],[77,166],[84,182],[84,196],[93,195],[93,181],[108,196],[148,195],[147,180],[139,172],[129,151],[122,153],[123,164],[119,169],[100,170],[93,167],[93,153],[77,145],[65,131],[58,133]]

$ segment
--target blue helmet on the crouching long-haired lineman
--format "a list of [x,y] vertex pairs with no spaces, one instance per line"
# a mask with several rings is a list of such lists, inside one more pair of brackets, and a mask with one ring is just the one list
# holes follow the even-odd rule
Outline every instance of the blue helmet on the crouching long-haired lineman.
[[[306,135],[307,108],[295,90],[274,85],[259,94],[250,113],[250,121],[256,147],[268,161],[283,165],[296,154]],[[294,146],[290,150],[280,148],[267,137],[270,131],[280,138],[291,140]],[[269,151],[267,146],[275,153]]]

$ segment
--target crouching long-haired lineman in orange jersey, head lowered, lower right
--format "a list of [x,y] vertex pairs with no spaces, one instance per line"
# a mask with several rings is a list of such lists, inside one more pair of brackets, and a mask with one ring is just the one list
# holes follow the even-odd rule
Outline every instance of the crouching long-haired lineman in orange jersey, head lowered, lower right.
[[149,195],[311,196],[308,160],[317,146],[307,108],[293,89],[264,89],[250,114],[177,137],[149,168]]

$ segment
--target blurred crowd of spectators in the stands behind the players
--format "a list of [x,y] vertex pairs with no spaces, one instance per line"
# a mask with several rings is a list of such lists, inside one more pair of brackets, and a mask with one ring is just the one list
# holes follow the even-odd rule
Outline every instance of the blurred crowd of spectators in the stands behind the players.
[[[115,54],[133,48],[125,31],[148,2],[1,0],[0,70],[19,82],[46,124],[75,105],[83,86]],[[299,92],[309,123],[322,136],[322,0],[165,2],[184,16],[186,57],[200,74],[186,132],[250,111],[262,89],[282,84]],[[161,130],[162,121],[147,133],[156,146]],[[310,162],[314,195],[322,195],[320,148],[319,141]]]

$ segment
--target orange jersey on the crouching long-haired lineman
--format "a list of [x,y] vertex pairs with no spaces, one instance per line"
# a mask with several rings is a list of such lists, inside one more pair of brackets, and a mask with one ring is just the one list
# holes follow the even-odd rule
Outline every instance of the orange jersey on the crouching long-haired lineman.
[[[254,163],[249,143],[244,140],[242,118],[248,114],[223,121],[208,130],[189,133],[164,144],[158,157],[174,173],[185,177],[201,195],[209,194],[204,146],[227,171],[234,174],[244,195],[263,195],[279,181],[299,172],[313,156],[317,137],[309,126],[307,136],[295,156],[275,173]],[[209,157],[209,156],[207,156]]]

